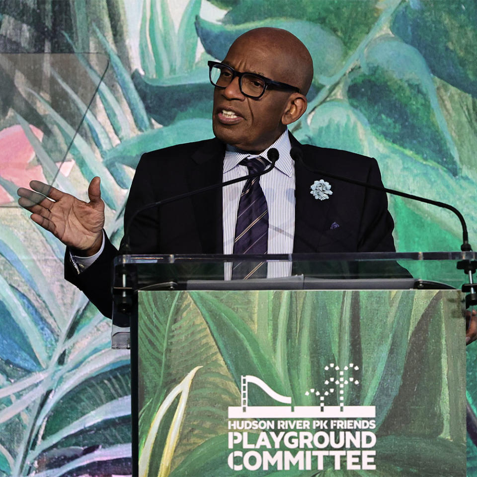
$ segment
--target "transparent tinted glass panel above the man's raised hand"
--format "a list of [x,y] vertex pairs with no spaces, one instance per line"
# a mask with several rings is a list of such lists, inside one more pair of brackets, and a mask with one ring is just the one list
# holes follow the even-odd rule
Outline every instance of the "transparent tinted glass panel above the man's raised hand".
[[94,136],[91,123],[80,129],[107,67],[97,53],[0,54],[1,207],[18,207],[16,189],[32,179],[78,196],[65,176],[84,156],[79,134]]

